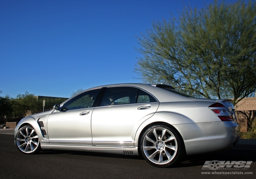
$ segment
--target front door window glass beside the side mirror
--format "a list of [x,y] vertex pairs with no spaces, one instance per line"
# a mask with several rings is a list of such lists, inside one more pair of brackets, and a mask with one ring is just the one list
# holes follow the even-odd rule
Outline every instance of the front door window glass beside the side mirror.
[[61,111],[93,107],[100,89],[86,91],[63,104]]

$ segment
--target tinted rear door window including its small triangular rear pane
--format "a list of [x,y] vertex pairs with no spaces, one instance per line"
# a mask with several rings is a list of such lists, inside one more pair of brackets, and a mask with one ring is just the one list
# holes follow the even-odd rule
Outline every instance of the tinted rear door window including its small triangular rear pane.
[[110,87],[106,88],[106,91],[101,102],[101,106],[148,102],[156,102],[156,99],[152,95],[138,88]]

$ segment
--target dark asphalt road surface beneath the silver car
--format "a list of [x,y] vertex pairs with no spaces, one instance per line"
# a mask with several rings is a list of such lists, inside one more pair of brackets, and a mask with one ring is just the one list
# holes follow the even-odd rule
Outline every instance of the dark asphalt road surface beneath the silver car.
[[[256,150],[230,149],[203,155],[185,156],[173,168],[156,168],[140,156],[73,151],[42,151],[35,155],[20,153],[14,136],[0,134],[0,179],[26,178],[256,178]],[[253,161],[246,172],[253,174],[203,175],[205,161]],[[214,172],[217,170],[208,170]],[[218,170],[219,171],[219,170]],[[241,170],[232,170],[240,172]],[[244,170],[242,170],[244,172]]]

